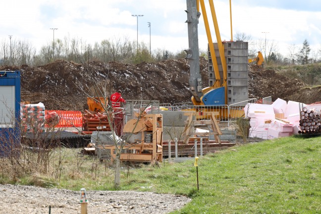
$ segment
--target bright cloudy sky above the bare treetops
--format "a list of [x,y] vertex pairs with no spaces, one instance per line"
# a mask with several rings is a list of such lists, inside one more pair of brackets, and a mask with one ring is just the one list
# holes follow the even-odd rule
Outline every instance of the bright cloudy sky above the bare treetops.
[[[231,0],[232,31],[255,42],[274,43],[283,56],[305,39],[321,49],[321,7],[317,0]],[[208,1],[205,0],[206,5]],[[222,41],[231,40],[229,0],[214,0]],[[37,51],[53,39],[77,38],[93,45],[102,40],[128,38],[150,45],[152,51],[173,53],[188,48],[186,0],[3,0],[0,42],[30,42]],[[210,14],[209,7],[207,13]],[[149,28],[148,22],[151,22]],[[212,24],[211,24],[212,26]],[[50,28],[57,28],[52,30]],[[207,49],[203,17],[199,19],[199,48]],[[263,33],[266,32],[266,33]],[[211,27],[215,41],[214,27]],[[257,48],[257,47],[254,47]]]

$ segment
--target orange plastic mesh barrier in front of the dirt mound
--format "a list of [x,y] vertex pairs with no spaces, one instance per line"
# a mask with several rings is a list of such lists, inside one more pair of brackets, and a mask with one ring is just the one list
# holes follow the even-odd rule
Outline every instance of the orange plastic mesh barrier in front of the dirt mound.
[[59,123],[54,127],[82,127],[81,111],[46,110],[46,117],[52,112],[57,113],[59,116]]

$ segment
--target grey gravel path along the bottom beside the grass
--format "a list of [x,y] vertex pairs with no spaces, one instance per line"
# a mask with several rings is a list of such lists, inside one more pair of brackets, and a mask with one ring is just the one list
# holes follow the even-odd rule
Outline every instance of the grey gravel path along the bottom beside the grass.
[[[89,214],[166,214],[191,199],[134,191],[86,191]],[[80,191],[0,185],[0,214],[80,214]]]

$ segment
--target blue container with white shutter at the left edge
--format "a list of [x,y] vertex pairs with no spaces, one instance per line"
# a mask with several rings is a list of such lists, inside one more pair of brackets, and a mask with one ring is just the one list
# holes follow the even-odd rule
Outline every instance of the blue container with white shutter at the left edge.
[[20,144],[20,71],[0,71],[0,156]]

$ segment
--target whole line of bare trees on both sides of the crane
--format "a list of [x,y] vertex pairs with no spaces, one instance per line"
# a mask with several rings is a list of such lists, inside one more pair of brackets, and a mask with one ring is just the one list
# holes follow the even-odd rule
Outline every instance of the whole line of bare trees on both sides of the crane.
[[[277,42],[257,41],[250,35],[236,33],[235,40],[249,43],[249,57],[255,57],[258,51],[264,53],[267,64],[279,65],[306,65],[321,62],[321,50],[312,51],[308,40],[304,40],[302,46],[290,45],[287,56],[278,51]],[[207,57],[207,50],[200,50],[200,55]],[[55,60],[66,60],[80,63],[79,58],[104,63],[118,61],[127,64],[142,62],[160,62],[167,59],[178,59],[186,56],[183,50],[176,53],[165,49],[156,49],[150,53],[148,44],[130,41],[127,37],[114,37],[100,43],[89,45],[86,41],[78,38],[64,37],[55,39],[51,43],[42,46],[39,51],[29,41],[21,41],[10,38],[0,42],[0,65],[29,65],[41,66]]]

